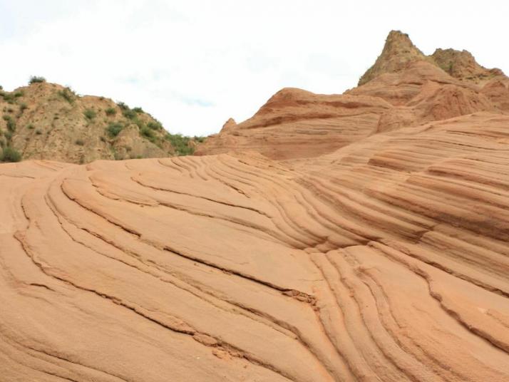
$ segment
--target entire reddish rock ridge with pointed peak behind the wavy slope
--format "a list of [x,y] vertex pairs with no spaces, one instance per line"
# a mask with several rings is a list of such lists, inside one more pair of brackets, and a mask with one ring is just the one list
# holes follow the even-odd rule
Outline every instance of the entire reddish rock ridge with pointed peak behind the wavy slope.
[[227,123],[196,153],[254,150],[272,159],[309,158],[375,133],[509,110],[509,79],[500,70],[483,68],[467,51],[425,56],[399,31],[389,33],[359,85],[332,96],[283,89],[249,120]]

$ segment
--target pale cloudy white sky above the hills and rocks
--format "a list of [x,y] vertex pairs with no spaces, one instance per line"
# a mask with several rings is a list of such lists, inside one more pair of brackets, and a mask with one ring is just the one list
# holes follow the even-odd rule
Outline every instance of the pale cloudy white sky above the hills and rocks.
[[279,89],[343,93],[391,29],[509,73],[509,1],[0,0],[0,85],[30,76],[217,133]]

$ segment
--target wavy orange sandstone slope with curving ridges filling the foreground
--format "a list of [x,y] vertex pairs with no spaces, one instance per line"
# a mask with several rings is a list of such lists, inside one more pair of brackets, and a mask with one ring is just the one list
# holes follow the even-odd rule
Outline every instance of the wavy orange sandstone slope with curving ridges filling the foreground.
[[508,381],[508,126],[1,165],[2,381]]

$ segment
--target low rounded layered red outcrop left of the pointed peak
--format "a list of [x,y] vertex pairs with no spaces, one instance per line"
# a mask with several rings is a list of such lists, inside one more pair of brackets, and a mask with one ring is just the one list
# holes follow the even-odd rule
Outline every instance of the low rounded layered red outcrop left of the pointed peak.
[[322,96],[285,88],[249,120],[225,124],[195,153],[255,150],[278,159],[316,156],[375,133],[380,115],[390,109],[381,98]]

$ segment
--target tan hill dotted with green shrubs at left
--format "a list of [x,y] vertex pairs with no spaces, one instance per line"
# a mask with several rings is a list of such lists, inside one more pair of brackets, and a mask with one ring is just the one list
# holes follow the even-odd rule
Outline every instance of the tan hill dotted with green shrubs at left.
[[142,108],[33,77],[29,86],[0,90],[0,159],[93,160],[162,158],[192,153],[195,138],[168,133]]

